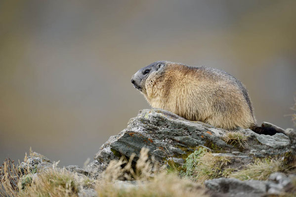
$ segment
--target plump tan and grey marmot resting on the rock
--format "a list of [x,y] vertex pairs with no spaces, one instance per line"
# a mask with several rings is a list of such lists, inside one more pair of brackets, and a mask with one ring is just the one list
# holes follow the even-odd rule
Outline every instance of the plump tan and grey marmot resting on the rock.
[[274,128],[256,126],[246,87],[225,71],[160,61],[138,70],[131,83],[152,107],[187,120],[225,130],[240,127],[264,134],[277,132]]

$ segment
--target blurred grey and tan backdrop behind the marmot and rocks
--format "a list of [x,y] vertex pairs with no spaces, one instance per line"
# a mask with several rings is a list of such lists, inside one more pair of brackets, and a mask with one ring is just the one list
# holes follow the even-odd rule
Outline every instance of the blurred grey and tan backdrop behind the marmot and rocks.
[[248,88],[257,121],[294,127],[295,0],[0,0],[0,160],[32,147],[83,166],[144,97],[159,60],[217,67]]

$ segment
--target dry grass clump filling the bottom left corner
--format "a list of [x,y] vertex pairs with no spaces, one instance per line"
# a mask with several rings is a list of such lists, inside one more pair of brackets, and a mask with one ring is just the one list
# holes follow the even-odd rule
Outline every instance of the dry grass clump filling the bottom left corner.
[[[31,151],[30,151],[31,152]],[[25,156],[27,160],[27,154]],[[31,169],[20,170],[7,159],[0,168],[1,197],[76,197],[78,184],[74,174],[65,169],[48,169],[31,173]]]

